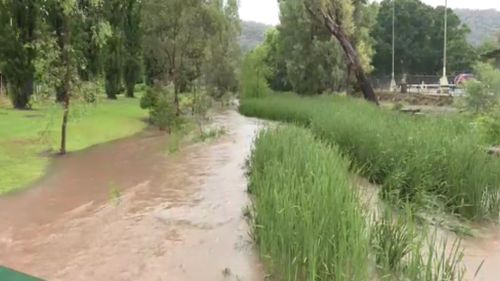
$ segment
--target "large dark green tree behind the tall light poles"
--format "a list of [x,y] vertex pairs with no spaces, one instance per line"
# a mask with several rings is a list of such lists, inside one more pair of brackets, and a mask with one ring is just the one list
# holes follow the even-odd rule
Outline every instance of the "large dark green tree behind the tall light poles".
[[[376,41],[373,58],[375,72],[391,73],[393,3],[396,13],[395,72],[440,73],[443,67],[444,7],[433,8],[414,0],[385,0],[380,3],[377,24],[372,30]],[[452,73],[470,70],[477,59],[474,48],[467,41],[469,33],[469,28],[449,9],[447,67]]]

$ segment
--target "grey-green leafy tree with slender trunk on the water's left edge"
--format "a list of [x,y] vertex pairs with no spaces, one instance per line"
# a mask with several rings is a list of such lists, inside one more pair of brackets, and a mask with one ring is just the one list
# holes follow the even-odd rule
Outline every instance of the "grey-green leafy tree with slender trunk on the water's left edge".
[[145,0],[144,56],[149,81],[172,82],[180,114],[179,93],[200,76],[206,43],[206,3],[202,0]]

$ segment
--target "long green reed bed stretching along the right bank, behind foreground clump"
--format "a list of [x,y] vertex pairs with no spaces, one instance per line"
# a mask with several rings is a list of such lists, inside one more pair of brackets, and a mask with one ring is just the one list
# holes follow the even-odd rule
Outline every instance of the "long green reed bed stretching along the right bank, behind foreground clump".
[[342,97],[243,100],[248,116],[306,126],[382,185],[385,199],[460,218],[498,218],[500,159],[460,116],[412,117]]

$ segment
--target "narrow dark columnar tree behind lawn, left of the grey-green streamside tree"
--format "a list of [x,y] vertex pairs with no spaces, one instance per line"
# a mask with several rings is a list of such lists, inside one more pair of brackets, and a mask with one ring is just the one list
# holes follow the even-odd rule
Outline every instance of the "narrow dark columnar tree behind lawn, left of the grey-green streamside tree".
[[139,78],[141,67],[141,2],[139,0],[127,0],[125,11],[125,62],[123,81],[127,88],[127,97],[133,98],[135,84]]

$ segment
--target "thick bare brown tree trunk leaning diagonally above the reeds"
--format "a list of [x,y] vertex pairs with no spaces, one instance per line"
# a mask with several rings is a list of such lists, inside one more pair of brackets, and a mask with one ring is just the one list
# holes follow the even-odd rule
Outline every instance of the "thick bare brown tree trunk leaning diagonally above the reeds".
[[[306,6],[309,13],[317,18],[316,14],[311,10],[310,7]],[[330,31],[330,33],[337,38],[344,53],[347,57],[348,64],[351,67],[351,71],[354,72],[356,79],[358,81],[358,86],[361,88],[363,92],[363,97],[370,102],[373,102],[376,105],[379,105],[377,96],[373,91],[372,85],[368,80],[368,77],[363,70],[363,66],[361,65],[361,61],[359,60],[359,55],[354,46],[352,45],[349,37],[343,30],[342,26],[338,24],[334,18],[329,15],[325,11],[321,11],[321,17],[325,27]]]

